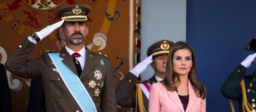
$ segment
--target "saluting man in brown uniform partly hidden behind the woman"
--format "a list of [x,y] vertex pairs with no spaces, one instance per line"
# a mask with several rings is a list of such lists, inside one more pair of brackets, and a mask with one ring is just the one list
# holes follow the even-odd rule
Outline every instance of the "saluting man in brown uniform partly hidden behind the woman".
[[[174,43],[160,40],[148,48],[148,58],[137,64],[118,84],[117,102],[123,107],[135,107],[135,111],[148,111],[149,90],[153,83],[159,82],[166,76],[167,56]],[[155,74],[148,80],[138,81],[137,78],[148,65]]]

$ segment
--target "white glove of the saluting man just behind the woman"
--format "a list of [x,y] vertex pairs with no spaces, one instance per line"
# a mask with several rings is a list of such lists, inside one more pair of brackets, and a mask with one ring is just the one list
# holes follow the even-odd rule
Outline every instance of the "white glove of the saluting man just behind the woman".
[[140,63],[138,63],[132,70],[130,70],[130,72],[132,74],[135,74],[136,77],[139,77],[139,74],[141,74],[146,68],[147,66],[152,63],[152,55],[149,55],[148,58],[144,59],[143,61],[141,61]]

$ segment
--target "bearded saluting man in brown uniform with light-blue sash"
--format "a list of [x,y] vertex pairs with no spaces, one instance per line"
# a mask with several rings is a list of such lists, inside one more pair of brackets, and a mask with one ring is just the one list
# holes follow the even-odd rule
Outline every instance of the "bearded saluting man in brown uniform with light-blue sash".
[[[111,61],[83,44],[89,30],[88,13],[89,8],[80,4],[59,9],[62,21],[29,36],[5,63],[17,76],[41,80],[46,111],[117,111]],[[59,27],[66,46],[60,52],[27,59],[36,43]]]

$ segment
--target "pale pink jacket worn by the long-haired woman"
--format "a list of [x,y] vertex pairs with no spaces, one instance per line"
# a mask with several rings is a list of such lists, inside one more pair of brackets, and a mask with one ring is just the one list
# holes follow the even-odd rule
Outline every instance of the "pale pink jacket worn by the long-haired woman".
[[[197,97],[190,81],[188,80],[188,105],[187,111],[203,112],[206,111],[206,98]],[[161,83],[154,83],[150,88],[149,112],[156,111],[175,111],[185,112],[180,98],[176,91],[168,91]]]

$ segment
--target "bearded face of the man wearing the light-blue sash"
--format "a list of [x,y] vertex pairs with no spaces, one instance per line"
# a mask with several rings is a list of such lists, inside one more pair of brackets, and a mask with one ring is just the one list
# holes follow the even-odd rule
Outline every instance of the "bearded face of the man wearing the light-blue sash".
[[72,45],[80,45],[86,39],[88,27],[86,22],[65,22],[63,33],[66,41]]

